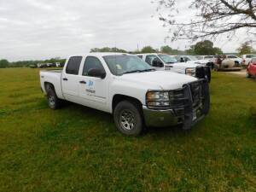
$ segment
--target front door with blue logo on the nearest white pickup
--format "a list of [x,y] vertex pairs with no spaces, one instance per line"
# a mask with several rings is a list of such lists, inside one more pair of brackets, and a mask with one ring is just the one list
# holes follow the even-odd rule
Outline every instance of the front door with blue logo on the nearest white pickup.
[[79,96],[84,105],[105,110],[108,106],[108,76],[104,78],[90,76],[90,70],[95,69],[106,73],[99,58],[87,56],[84,61],[82,75],[79,76]]

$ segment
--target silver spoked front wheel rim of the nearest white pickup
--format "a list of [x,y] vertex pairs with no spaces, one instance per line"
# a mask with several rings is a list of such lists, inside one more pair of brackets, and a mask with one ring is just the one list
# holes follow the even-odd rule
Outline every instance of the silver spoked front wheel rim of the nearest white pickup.
[[120,113],[120,125],[124,130],[131,131],[135,126],[135,115],[131,110],[125,109]]

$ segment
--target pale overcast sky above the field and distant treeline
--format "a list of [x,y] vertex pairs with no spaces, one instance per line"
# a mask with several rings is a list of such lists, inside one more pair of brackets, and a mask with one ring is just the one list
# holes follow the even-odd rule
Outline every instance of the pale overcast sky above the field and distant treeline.
[[[181,19],[189,16],[187,2]],[[186,49],[187,41],[165,42],[167,29],[155,9],[151,0],[0,0],[0,59],[66,57],[104,46],[135,50],[137,44]],[[214,45],[232,52],[239,42]]]

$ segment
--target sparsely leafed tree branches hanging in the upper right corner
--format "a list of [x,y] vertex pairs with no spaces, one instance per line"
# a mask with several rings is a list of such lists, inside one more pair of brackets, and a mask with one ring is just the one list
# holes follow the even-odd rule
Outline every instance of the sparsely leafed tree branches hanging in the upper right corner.
[[[226,34],[231,38],[241,28],[248,35],[256,37],[256,1],[255,0],[193,0],[189,9],[195,13],[191,19],[180,21],[178,17],[182,3],[177,0],[155,0],[157,11],[164,26],[169,26],[172,41],[177,39],[216,38]],[[168,15],[161,15],[168,9]]]

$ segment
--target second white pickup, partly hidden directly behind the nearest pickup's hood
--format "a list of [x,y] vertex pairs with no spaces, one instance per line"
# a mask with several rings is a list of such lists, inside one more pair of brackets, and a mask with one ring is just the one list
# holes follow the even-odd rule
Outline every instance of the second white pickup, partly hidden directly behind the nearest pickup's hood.
[[157,71],[182,73],[198,79],[207,79],[208,82],[211,81],[211,69],[201,64],[177,62],[174,57],[160,53],[137,54],[137,56]]

